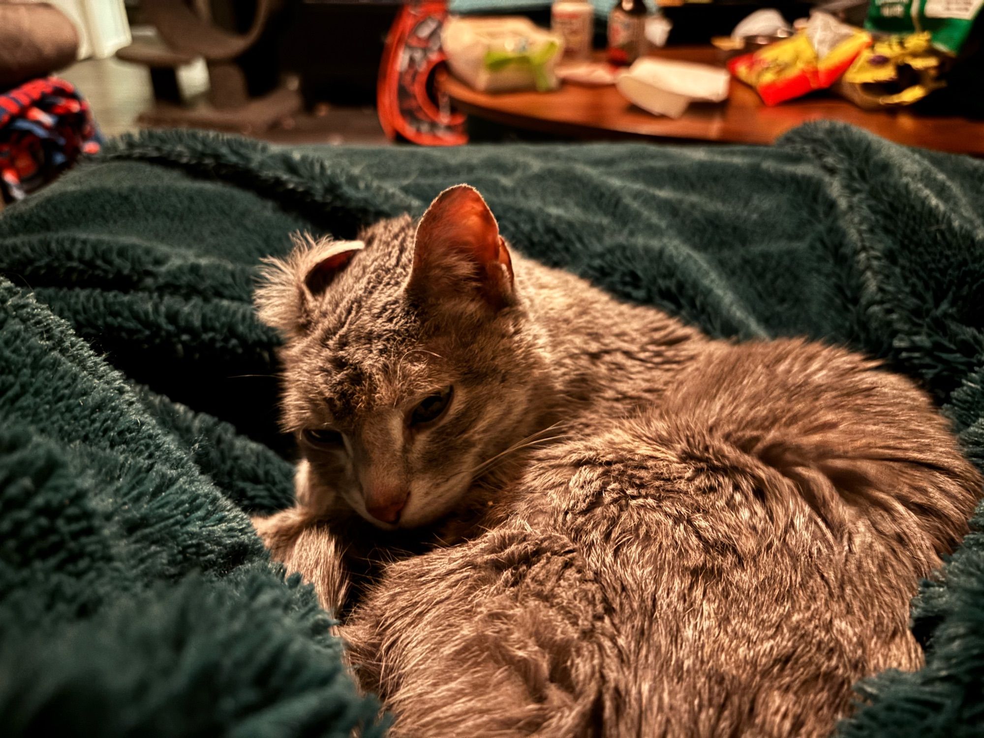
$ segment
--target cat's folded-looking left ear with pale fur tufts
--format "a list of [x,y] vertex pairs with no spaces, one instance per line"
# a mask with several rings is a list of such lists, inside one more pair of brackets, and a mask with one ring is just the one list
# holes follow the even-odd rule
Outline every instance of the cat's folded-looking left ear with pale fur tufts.
[[257,315],[285,338],[304,334],[329,285],[359,251],[362,241],[315,239],[292,233],[294,249],[283,259],[265,259],[262,283],[254,294]]

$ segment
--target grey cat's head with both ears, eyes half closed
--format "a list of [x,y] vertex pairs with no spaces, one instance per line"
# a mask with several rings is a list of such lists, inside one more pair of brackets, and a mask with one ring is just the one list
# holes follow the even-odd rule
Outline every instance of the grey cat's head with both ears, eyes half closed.
[[483,462],[535,429],[549,395],[542,338],[474,189],[360,239],[296,237],[256,303],[284,337],[299,487],[380,527],[414,527],[452,510]]

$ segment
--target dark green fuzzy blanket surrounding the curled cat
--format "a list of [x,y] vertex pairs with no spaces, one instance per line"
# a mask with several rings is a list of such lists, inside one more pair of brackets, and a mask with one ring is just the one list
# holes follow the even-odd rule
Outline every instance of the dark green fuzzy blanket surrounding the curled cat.
[[[0,215],[4,736],[385,731],[243,512],[291,496],[250,292],[289,231],[349,237],[461,181],[622,298],[886,358],[984,463],[984,162],[826,124],[768,149],[123,139]],[[914,604],[926,667],[859,685],[844,735],[979,734],[980,523]]]

